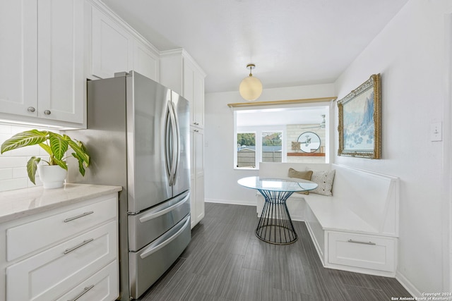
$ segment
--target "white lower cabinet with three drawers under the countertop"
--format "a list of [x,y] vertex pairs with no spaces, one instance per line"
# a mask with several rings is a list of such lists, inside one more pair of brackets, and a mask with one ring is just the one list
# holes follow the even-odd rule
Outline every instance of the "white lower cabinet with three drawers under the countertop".
[[117,202],[96,197],[0,224],[6,300],[115,300]]

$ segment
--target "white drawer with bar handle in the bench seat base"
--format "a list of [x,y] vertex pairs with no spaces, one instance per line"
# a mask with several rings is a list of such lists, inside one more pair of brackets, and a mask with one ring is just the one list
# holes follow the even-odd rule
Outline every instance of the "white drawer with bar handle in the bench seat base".
[[328,233],[328,262],[379,271],[394,271],[396,238]]

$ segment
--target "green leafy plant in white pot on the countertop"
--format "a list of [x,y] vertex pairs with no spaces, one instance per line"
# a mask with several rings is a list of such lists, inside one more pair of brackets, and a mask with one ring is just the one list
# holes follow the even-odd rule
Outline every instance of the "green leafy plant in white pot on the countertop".
[[[73,150],[71,154],[78,160],[78,171],[80,171],[82,176],[85,176],[85,168],[90,165],[90,156],[85,149],[85,145],[83,145],[81,141],[72,140],[68,135],[60,135],[47,130],[25,130],[24,132],[13,135],[13,137],[9,138],[1,145],[0,153],[3,154],[4,152],[20,147],[26,147],[28,145],[40,145],[40,147],[49,154],[49,161],[32,156],[27,163],[27,173],[30,181],[36,185],[35,174],[39,169],[38,172],[40,173],[44,188],[59,188],[63,186],[68,169],[68,166],[64,161],[68,149]],[[41,161],[46,162],[47,165],[39,164]],[[50,168],[56,169],[54,172],[59,173],[62,180],[61,178],[51,178],[49,182],[46,183],[44,178],[49,175],[49,171],[45,171],[44,166],[54,166]],[[51,174],[51,177],[54,177],[53,174]]]

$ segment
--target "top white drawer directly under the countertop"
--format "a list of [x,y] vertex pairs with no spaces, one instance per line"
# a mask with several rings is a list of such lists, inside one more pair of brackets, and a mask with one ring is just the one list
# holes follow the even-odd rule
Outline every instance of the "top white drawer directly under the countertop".
[[65,211],[6,230],[6,260],[52,245],[117,216],[117,198]]

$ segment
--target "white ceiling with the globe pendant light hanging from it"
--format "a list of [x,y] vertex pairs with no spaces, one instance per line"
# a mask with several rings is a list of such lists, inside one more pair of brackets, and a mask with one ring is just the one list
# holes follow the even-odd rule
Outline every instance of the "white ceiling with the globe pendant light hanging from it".
[[408,0],[103,1],[157,49],[186,49],[206,92],[223,92],[247,63],[264,88],[334,82]]

